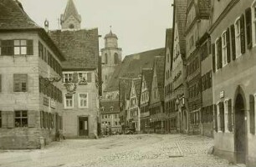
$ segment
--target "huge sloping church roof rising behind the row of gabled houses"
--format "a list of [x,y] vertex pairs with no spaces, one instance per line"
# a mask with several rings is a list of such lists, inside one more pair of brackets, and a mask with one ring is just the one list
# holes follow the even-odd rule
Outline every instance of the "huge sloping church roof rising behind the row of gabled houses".
[[122,63],[115,68],[105,91],[117,90],[119,78],[137,78],[143,68],[152,68],[155,56],[164,55],[164,51],[165,48],[157,48],[125,56]]

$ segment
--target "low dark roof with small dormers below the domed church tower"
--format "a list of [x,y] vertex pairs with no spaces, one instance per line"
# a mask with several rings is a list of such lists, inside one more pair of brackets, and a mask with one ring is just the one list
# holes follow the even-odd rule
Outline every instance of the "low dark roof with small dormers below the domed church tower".
[[[104,110],[102,110],[104,108]],[[119,113],[119,101],[118,100],[105,100],[100,102],[100,114]]]

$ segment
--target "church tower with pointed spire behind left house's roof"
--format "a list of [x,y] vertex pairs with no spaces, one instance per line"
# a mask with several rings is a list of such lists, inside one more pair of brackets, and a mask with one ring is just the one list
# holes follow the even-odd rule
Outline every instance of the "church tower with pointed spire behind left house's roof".
[[64,14],[60,16],[61,29],[80,29],[81,16],[77,12],[73,0],[68,0]]

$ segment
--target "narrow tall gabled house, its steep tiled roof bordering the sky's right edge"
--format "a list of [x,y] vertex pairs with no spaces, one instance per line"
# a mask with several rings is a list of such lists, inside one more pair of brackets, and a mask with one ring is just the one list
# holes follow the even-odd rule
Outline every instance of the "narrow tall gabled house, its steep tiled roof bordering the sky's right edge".
[[186,26],[187,0],[175,0],[173,9],[173,43],[171,64],[171,97],[169,106],[169,126],[172,133],[187,133],[188,109],[185,98],[185,55],[186,55]]

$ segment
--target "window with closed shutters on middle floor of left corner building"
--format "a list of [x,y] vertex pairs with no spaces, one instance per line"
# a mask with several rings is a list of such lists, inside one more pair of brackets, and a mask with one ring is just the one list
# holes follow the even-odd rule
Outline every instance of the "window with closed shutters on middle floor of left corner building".
[[13,91],[27,92],[28,74],[13,74]]

